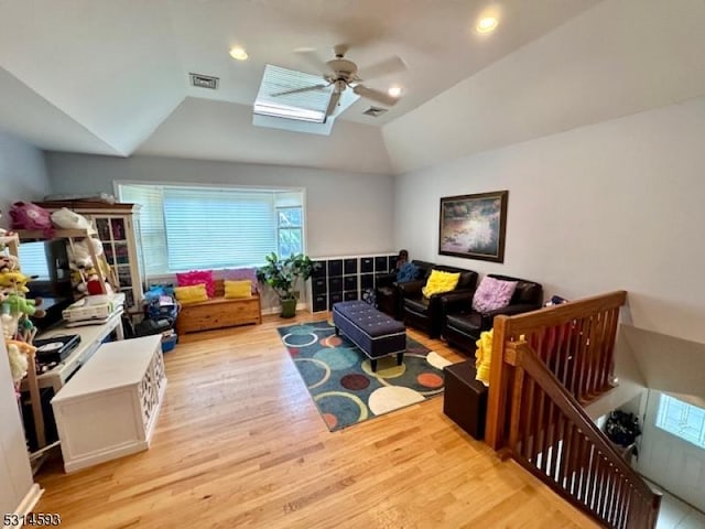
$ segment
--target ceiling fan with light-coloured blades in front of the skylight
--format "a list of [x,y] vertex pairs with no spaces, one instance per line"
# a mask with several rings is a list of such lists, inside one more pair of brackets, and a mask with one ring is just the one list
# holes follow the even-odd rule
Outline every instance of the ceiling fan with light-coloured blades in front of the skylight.
[[[397,105],[399,98],[392,97],[383,91],[369,88],[362,84],[362,77],[358,76],[357,64],[345,58],[345,54],[348,51],[347,45],[338,44],[333,51],[335,53],[335,58],[330,61],[323,61],[312,50],[302,50],[296,52],[308,63],[308,65],[323,74],[325,83],[305,86],[303,88],[295,88],[293,90],[280,91],[272,94],[272,97],[300,94],[311,90],[323,90],[333,86],[333,94],[330,95],[328,107],[326,108],[326,118],[333,115],[338,106],[338,101],[340,100],[340,95],[348,87],[358,96],[371,99],[381,105],[386,105],[388,107]],[[372,79],[375,77],[381,77],[382,75],[403,72],[404,69],[406,69],[404,62],[397,56],[392,56],[369,67],[362,68],[362,73],[365,74],[365,79]]]

